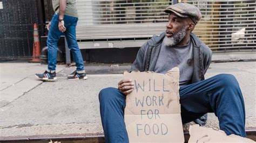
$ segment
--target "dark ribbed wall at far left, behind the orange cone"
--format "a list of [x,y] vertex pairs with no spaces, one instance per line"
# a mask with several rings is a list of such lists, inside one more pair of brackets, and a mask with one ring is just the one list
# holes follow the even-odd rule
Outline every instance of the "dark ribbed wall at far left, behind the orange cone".
[[44,34],[42,1],[0,0],[0,59],[28,59],[32,56],[33,24]]

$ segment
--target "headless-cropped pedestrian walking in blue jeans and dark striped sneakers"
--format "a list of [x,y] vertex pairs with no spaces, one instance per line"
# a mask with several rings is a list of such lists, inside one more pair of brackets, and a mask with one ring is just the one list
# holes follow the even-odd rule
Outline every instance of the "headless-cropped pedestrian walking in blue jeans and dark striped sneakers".
[[43,74],[36,74],[36,77],[44,81],[55,81],[57,63],[57,43],[60,35],[65,34],[68,47],[76,62],[76,73],[69,76],[68,80],[86,80],[83,57],[77,44],[76,25],[78,21],[75,0],[52,0],[55,11],[51,22],[47,25],[49,30],[47,38],[48,46],[48,69]]

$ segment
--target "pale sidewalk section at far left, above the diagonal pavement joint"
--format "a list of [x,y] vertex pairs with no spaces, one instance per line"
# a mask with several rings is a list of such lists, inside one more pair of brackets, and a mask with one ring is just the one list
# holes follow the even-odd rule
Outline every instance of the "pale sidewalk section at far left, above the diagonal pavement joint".
[[[56,71],[64,68],[65,65],[58,65]],[[0,69],[0,107],[2,107],[41,84],[42,81],[35,80],[35,73],[43,73],[47,65],[11,61],[0,63]]]

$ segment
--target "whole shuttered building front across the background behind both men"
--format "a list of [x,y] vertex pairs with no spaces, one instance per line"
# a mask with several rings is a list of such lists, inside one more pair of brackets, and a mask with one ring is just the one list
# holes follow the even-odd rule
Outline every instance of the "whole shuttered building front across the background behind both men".
[[[48,35],[45,25],[53,15],[51,0],[0,0],[0,59],[28,59],[32,56],[33,24],[39,36]],[[153,34],[164,32],[167,5],[174,0],[76,0],[77,39],[84,60],[109,61],[138,48]],[[256,3],[254,0],[179,0],[201,10],[203,18],[194,33],[214,52],[255,51]],[[1,9],[3,7],[3,9]],[[45,40],[41,45],[45,45]],[[41,46],[41,48],[43,48]],[[130,50],[126,49],[129,48]],[[134,50],[132,48],[135,48]],[[101,53],[101,54],[98,54]],[[106,56],[110,58],[106,58]],[[109,60],[105,60],[105,59]],[[113,59],[111,59],[113,58]],[[118,59],[130,62],[133,59]]]

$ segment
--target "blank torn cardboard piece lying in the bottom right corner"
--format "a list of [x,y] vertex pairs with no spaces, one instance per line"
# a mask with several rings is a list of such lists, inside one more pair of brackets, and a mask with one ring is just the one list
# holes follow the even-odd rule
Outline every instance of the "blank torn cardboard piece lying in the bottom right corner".
[[192,125],[189,129],[190,139],[188,143],[192,142],[255,142],[251,139],[243,138],[238,135],[226,135],[224,131],[214,130],[213,128],[200,127],[199,125]]

